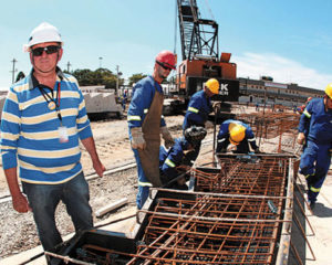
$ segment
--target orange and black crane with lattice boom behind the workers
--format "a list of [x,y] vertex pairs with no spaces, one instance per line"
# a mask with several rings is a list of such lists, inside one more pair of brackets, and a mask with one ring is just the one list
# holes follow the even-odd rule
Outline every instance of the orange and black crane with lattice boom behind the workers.
[[177,0],[177,12],[183,61],[174,77],[175,86],[164,102],[164,115],[186,109],[190,96],[203,89],[209,78],[220,84],[212,100],[224,106],[229,106],[226,102],[238,102],[237,65],[230,62],[231,53],[219,56],[218,23],[200,18],[196,0]]

